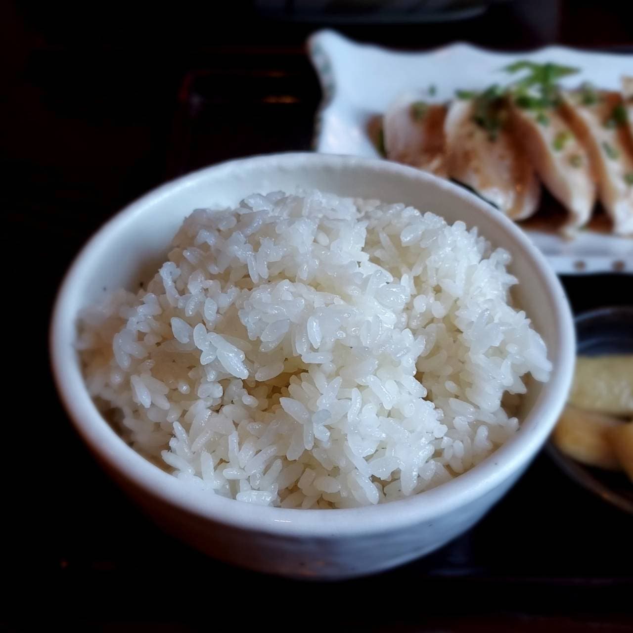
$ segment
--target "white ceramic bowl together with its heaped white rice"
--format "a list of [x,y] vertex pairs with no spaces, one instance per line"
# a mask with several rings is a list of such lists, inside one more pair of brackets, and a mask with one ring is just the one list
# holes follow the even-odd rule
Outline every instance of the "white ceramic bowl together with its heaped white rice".
[[574,338],[556,275],[477,197],[387,161],[277,154],[104,225],[51,350],[78,432],[164,529],[340,579],[441,547],[508,491],[565,403]]

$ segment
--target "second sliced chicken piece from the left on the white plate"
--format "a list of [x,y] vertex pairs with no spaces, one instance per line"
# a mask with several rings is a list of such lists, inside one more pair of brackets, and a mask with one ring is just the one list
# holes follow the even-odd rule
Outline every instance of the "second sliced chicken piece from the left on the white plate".
[[525,154],[505,129],[495,137],[474,120],[475,102],[456,99],[444,122],[449,177],[474,189],[513,220],[532,215],[541,185]]

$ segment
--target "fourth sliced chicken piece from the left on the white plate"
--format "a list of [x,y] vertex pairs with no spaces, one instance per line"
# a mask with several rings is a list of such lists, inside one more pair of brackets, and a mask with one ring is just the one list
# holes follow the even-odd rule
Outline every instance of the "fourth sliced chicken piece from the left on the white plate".
[[598,179],[598,196],[613,220],[613,232],[633,235],[633,141],[619,92],[597,91],[587,103],[582,91],[563,95],[573,131],[587,147]]

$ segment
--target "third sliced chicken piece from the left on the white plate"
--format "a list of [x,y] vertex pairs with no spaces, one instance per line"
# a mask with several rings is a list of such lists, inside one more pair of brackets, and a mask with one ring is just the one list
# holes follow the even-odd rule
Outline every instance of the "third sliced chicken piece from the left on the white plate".
[[554,108],[546,111],[510,106],[515,138],[543,184],[569,211],[566,232],[585,225],[596,203],[596,185],[586,149]]

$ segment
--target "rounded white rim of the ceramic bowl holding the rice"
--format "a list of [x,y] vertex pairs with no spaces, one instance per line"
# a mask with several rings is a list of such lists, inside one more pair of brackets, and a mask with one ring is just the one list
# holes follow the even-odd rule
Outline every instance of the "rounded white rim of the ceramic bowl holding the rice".
[[[294,169],[298,165],[303,168],[368,170],[380,177],[396,175],[444,189],[456,201],[477,208],[478,213],[500,225],[513,249],[521,249],[523,255],[527,256],[532,272],[539,279],[543,291],[539,309],[549,311],[556,323],[555,349],[550,349],[549,354],[551,358],[559,359],[559,365],[554,368],[549,382],[544,384],[539,398],[523,420],[520,431],[486,460],[441,486],[410,498],[376,506],[329,510],[258,506],[210,495],[194,486],[184,485],[181,480],[161,470],[128,446],[99,413],[85,388],[73,347],[74,336],[69,335],[69,331],[74,332],[74,328],[69,323],[74,323],[77,316],[73,310],[77,287],[85,277],[90,277],[94,270],[92,260],[98,259],[100,253],[108,250],[113,236],[124,231],[132,219],[151,210],[163,197],[177,194],[206,179],[211,173],[214,177],[221,177],[222,173],[234,170],[256,170],[271,166]],[[503,246],[508,248],[508,244]],[[54,381],[61,401],[75,429],[91,451],[102,464],[118,475],[115,479],[119,482],[121,478],[129,480],[144,494],[190,515],[227,527],[301,537],[353,537],[432,522],[434,518],[466,506],[492,491],[527,464],[546,441],[567,399],[575,354],[572,313],[563,287],[541,252],[509,218],[466,189],[410,166],[374,158],[308,152],[263,154],[207,166],[160,185],[125,206],[92,235],[73,260],[54,303],[49,343]]]

